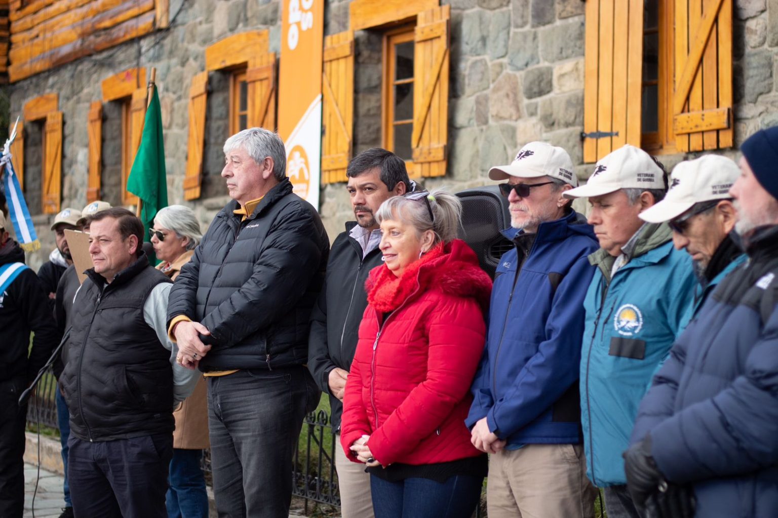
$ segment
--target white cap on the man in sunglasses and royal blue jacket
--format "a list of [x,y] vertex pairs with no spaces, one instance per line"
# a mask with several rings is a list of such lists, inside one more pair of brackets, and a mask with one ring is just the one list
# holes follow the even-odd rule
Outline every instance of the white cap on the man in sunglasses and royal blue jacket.
[[578,185],[573,160],[567,152],[545,142],[530,142],[521,148],[510,166],[494,166],[489,170],[489,178],[492,180],[507,180],[510,177],[552,177],[573,187]]

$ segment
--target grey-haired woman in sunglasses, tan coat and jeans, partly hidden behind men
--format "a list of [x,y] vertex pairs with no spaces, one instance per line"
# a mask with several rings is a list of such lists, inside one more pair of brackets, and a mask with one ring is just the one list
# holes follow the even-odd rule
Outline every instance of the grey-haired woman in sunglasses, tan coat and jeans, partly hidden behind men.
[[[162,261],[156,268],[175,280],[202,239],[195,212],[184,205],[162,208],[149,233],[154,253]],[[168,516],[208,516],[208,494],[200,467],[202,450],[209,447],[206,405],[205,381],[201,378],[191,396],[173,412],[176,429],[166,495]]]

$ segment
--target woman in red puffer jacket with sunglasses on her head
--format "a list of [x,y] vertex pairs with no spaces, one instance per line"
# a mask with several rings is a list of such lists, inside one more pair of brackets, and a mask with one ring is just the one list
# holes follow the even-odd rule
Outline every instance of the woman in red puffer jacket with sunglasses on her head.
[[460,214],[443,191],[376,213],[385,263],[366,284],[341,425],[346,454],[370,472],[376,518],[469,518],[480,500],[487,460],[464,418],[492,282],[455,239]]

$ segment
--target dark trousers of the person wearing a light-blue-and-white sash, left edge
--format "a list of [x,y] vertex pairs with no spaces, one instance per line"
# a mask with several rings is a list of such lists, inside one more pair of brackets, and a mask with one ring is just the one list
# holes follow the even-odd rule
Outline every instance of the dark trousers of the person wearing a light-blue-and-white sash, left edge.
[[26,378],[0,381],[0,516],[21,518],[24,508],[24,423],[19,408]]

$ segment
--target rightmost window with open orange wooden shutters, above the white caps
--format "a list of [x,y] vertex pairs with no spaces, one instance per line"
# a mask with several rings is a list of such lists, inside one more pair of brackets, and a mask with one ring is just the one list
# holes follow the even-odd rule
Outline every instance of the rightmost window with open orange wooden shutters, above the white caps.
[[584,162],[731,147],[732,0],[587,0]]

